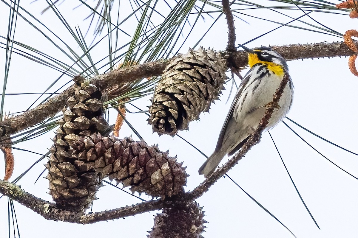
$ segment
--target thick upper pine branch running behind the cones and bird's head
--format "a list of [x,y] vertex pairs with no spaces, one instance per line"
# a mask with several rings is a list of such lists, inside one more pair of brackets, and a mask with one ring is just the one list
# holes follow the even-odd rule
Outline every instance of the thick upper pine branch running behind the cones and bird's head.
[[[354,42],[356,43],[356,41]],[[272,48],[279,52],[286,60],[349,56],[354,53],[343,42],[272,46]],[[165,66],[173,59],[174,58],[158,60],[116,69],[93,77],[91,82],[101,90],[105,90],[115,84],[125,84],[136,79],[160,75],[165,69]],[[245,67],[247,64],[246,51],[236,51],[232,54],[232,58],[230,59],[232,60],[232,66],[235,68]],[[32,127],[58,113],[66,104],[66,100],[74,94],[74,88],[75,86],[72,85],[61,94],[54,96],[36,108],[1,121],[0,139],[19,132],[20,130]]]

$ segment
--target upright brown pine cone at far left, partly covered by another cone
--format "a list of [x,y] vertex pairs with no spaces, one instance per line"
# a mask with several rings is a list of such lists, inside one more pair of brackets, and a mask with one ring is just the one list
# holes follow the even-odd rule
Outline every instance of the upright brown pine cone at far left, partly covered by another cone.
[[78,164],[78,152],[73,147],[82,136],[95,132],[106,135],[110,128],[103,118],[100,99],[101,92],[97,87],[84,80],[82,86],[76,88],[75,95],[67,100],[63,118],[58,122],[60,127],[53,139],[52,154],[46,168],[49,170],[50,194],[63,208],[88,208],[102,185],[103,174],[88,165],[92,161],[87,163],[87,170],[82,170]]

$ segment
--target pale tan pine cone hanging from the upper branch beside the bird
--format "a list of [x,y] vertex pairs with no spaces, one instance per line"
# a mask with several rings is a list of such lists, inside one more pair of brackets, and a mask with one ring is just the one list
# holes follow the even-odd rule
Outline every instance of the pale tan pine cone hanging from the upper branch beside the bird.
[[189,50],[170,63],[156,86],[149,124],[153,132],[175,135],[209,111],[224,89],[226,56],[214,50]]

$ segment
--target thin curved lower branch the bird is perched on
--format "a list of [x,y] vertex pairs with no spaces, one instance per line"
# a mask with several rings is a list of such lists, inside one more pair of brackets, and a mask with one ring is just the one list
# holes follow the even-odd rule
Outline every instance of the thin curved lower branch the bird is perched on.
[[106,210],[102,212],[96,212],[92,214],[72,212],[68,210],[63,210],[57,208],[56,204],[45,201],[43,199],[37,198],[34,195],[25,192],[18,185],[9,183],[4,180],[0,180],[0,193],[8,196],[9,198],[19,202],[32,209],[34,212],[42,215],[44,218],[49,220],[62,220],[64,222],[71,223],[80,223],[80,224],[90,224],[99,221],[109,220],[109,219],[118,219],[131,215],[136,215],[144,212],[149,212],[151,210],[159,210],[163,207],[170,207],[170,204],[180,203],[181,201],[190,201],[202,196],[210,187],[213,185],[219,178],[222,177],[225,173],[228,172],[254,145],[260,142],[261,134],[265,129],[271,114],[275,109],[275,105],[280,100],[280,96],[283,93],[283,90],[287,84],[288,75],[286,74],[284,79],[281,81],[279,88],[274,95],[271,103],[266,106],[266,112],[263,115],[260,124],[256,128],[253,135],[248,139],[248,141],[243,145],[240,152],[238,152],[231,160],[223,165],[220,169],[210,175],[207,179],[204,180],[198,187],[196,187],[192,192],[179,195],[177,199],[170,200],[151,200],[144,203],[139,203],[136,205],[126,206],[123,208]]

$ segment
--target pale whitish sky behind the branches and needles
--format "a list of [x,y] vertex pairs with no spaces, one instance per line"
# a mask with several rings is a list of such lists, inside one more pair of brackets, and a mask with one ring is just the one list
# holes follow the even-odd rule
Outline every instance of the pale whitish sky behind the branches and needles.
[[[9,3],[9,1],[5,0],[0,3],[0,11],[2,13],[0,14],[0,35],[6,37],[9,8],[4,2]],[[267,4],[267,1],[257,2],[259,4]],[[76,42],[53,11],[48,10],[44,14],[40,14],[47,6],[45,1],[41,0],[29,3],[30,1],[20,1],[20,6],[37,17],[43,24],[75,49],[78,54],[82,55],[83,52],[76,47]],[[173,4],[173,1],[169,1],[169,3]],[[79,1],[64,1],[64,3],[58,6],[58,9],[73,29],[79,26],[84,34],[86,33],[89,21],[83,21],[83,19],[88,16],[89,10],[84,6],[73,10],[78,4]],[[88,4],[94,6],[92,1],[89,1]],[[116,2],[116,4],[118,3]],[[271,4],[278,5],[277,3]],[[165,8],[165,5],[163,5],[163,8]],[[168,8],[165,9],[168,10]],[[124,5],[121,8],[120,19],[124,19],[129,11],[131,11],[130,7]],[[23,11],[20,11],[20,13],[24,14]],[[285,16],[274,14],[270,10],[246,10],[243,13],[255,14],[256,16],[280,22],[289,22],[291,20]],[[285,13],[294,17],[303,14],[300,11],[287,11]],[[113,15],[116,16],[116,14]],[[212,16],[216,19],[218,13],[213,13]],[[346,30],[356,29],[358,26],[357,19],[350,19],[347,15],[311,13],[310,16],[342,34]],[[256,20],[244,15],[241,17],[248,22],[245,23],[237,18],[235,19],[237,43],[241,44],[278,26],[274,23]],[[193,20],[195,20],[195,16],[193,16]],[[308,16],[304,16],[301,20],[316,24]],[[35,23],[33,19],[30,21]],[[197,42],[212,22],[213,19],[210,17],[206,17],[205,22],[199,19],[193,34],[190,35],[180,52],[186,53],[187,49]],[[38,23],[36,25],[39,26]],[[306,26],[297,22],[295,22],[295,25]],[[135,26],[136,20],[132,18],[122,29],[131,34]],[[44,28],[42,27],[41,29]],[[92,30],[89,31],[86,38],[88,45],[93,39]],[[63,44],[59,43],[59,40],[53,34],[49,33],[49,31],[45,32],[56,43],[63,46],[66,52],[69,52]],[[101,37],[103,35],[105,34],[102,34]],[[128,37],[121,37],[120,43],[124,44],[129,41]],[[63,60],[63,62],[72,64],[71,60],[61,51],[54,48],[52,43],[20,17],[18,17],[14,39]],[[179,40],[183,40],[183,38]],[[305,44],[342,40],[342,38],[334,36],[282,27],[253,41],[247,46],[253,48],[261,45]],[[0,39],[0,42],[6,43],[6,40]],[[227,26],[224,17],[217,21],[200,44],[204,48],[225,49],[227,44]],[[106,56],[108,54],[107,41],[103,40],[101,44],[93,49],[93,52],[91,51],[91,54],[95,62]],[[358,110],[356,102],[358,101],[358,78],[350,73],[347,62],[348,58],[344,57],[289,61],[288,65],[295,86],[295,94],[288,116],[316,134],[357,153]],[[0,49],[0,65],[5,65],[5,50],[2,48]],[[103,65],[103,63],[99,65]],[[4,68],[0,68],[0,78],[2,79],[4,79]],[[246,71],[242,74],[245,73]],[[61,73],[58,71],[13,53],[6,93],[42,92],[60,75]],[[63,76],[49,91],[55,91],[69,80],[71,78]],[[189,131],[179,133],[207,155],[212,153],[216,145],[221,125],[231,104],[234,93],[229,98],[229,102],[226,103],[230,87],[231,82],[226,85],[228,90],[223,91],[221,100],[212,104],[210,114],[201,114],[200,122],[191,122]],[[9,110],[11,112],[26,110],[37,96],[6,96],[4,108],[6,112]],[[137,100],[135,105],[144,109],[150,104],[149,99],[150,96]],[[128,109],[135,111],[131,106]],[[109,115],[110,123],[113,123],[116,117],[115,111],[113,109],[110,110]],[[172,139],[170,136],[162,136],[159,138],[157,134],[152,134],[151,126],[147,125],[147,116],[145,114],[127,113],[127,119],[135,126],[148,144],[158,143],[162,151],[170,148],[169,155],[173,157],[176,155],[178,162],[184,162],[184,166],[187,166],[187,173],[190,174],[186,190],[192,190],[203,181],[203,177],[198,175],[197,171],[205,158],[199,152],[178,137]],[[358,176],[357,156],[314,137],[288,120],[285,120],[285,122],[334,163],[353,175]],[[134,139],[137,139],[129,127],[125,125],[120,131],[120,138],[130,134],[133,135]],[[321,230],[316,227],[301,203],[268,133],[263,135],[260,144],[251,149],[245,158],[229,171],[229,176],[284,223],[296,237],[357,237],[357,179],[321,157],[284,124],[280,123],[276,128],[272,129],[271,134],[297,188]],[[50,148],[52,144],[49,138],[53,137],[54,133],[50,132],[28,142],[16,144],[15,147],[44,154],[47,152],[46,148]],[[40,158],[39,155],[29,152],[14,150],[13,153],[15,156],[13,179]],[[3,155],[0,156],[2,157]],[[45,163],[46,159],[35,165],[18,184],[21,184],[21,188],[37,197],[52,200],[50,195],[47,194],[48,180],[43,178],[46,173],[34,184],[36,178],[44,169],[43,164]],[[4,170],[4,164],[1,162],[0,176],[3,176]],[[97,197],[99,199],[94,202],[93,212],[141,202],[139,199],[108,185],[100,189]],[[141,197],[150,199],[145,195]],[[197,199],[197,202],[200,206],[204,207],[203,210],[205,210],[206,215],[204,219],[209,222],[205,224],[207,226],[206,232],[203,233],[205,238],[293,237],[280,223],[253,202],[228,178],[219,179],[207,193]],[[0,237],[8,237],[8,200],[5,197],[0,199],[0,210]],[[24,238],[71,238],[79,236],[144,238],[148,234],[147,231],[153,227],[154,215],[160,213],[160,211],[153,211],[125,219],[98,222],[91,225],[79,225],[46,220],[17,202],[15,202],[15,210],[20,235]],[[14,237],[13,232],[14,230],[11,228],[11,237]],[[15,237],[17,237],[17,234]]]

